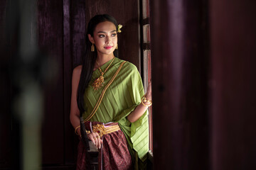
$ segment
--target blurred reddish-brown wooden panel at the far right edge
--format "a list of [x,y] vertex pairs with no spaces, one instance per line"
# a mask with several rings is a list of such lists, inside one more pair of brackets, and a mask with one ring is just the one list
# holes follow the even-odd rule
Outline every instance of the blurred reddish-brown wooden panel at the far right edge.
[[255,8],[256,1],[210,1],[214,170],[256,169]]

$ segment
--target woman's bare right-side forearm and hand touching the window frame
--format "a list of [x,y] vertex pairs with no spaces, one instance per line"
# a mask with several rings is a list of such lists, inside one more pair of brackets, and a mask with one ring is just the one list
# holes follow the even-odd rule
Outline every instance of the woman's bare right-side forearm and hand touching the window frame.
[[[151,96],[151,81],[149,82],[149,86],[147,87],[147,91],[146,91],[145,97],[149,101],[152,100],[152,96]],[[150,103],[144,103],[144,104],[149,105]],[[140,103],[139,106],[137,106],[137,108],[134,109],[134,111],[132,111],[131,113],[129,113],[129,115],[127,115],[127,119],[131,123],[134,123],[136,120],[138,120],[145,113],[147,108],[148,107],[146,107],[142,103]]]

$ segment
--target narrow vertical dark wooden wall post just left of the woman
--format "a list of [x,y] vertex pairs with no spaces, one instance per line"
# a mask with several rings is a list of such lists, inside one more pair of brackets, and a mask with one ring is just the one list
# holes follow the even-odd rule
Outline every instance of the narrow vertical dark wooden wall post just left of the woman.
[[65,164],[75,165],[78,141],[73,140],[76,135],[73,126],[70,123],[71,79],[73,73],[73,58],[71,55],[70,40],[70,0],[63,0],[64,157]]

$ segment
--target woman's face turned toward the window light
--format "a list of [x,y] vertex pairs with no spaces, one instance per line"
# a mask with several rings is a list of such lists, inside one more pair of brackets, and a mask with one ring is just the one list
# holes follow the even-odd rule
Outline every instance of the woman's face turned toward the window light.
[[117,30],[110,21],[98,23],[93,37],[91,35],[88,37],[90,42],[95,44],[97,54],[111,55],[117,47]]

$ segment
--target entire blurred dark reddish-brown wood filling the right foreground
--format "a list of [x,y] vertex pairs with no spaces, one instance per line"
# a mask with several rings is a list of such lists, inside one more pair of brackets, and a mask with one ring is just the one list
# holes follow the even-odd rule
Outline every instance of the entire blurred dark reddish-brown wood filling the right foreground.
[[256,169],[255,7],[151,1],[154,169]]

